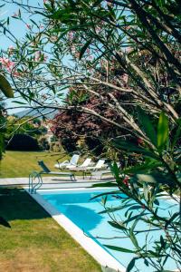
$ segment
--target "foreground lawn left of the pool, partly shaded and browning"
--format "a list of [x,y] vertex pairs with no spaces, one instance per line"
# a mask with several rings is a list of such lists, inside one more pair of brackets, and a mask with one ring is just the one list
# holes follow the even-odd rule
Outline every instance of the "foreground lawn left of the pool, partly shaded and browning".
[[101,271],[23,189],[0,189],[0,195],[0,215],[11,225],[0,226],[0,271]]

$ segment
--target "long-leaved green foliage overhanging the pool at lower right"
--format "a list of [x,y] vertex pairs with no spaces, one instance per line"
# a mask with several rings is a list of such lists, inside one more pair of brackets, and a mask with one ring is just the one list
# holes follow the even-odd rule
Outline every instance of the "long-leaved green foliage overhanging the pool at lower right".
[[[144,141],[139,146],[129,141],[113,141],[113,145],[118,149],[137,153],[145,160],[135,167],[123,170],[119,170],[116,163],[111,165],[116,179],[116,183],[112,185],[118,186],[119,190],[109,194],[119,199],[119,206],[108,207],[108,194],[102,193],[102,196],[107,196],[102,201],[104,210],[100,212],[110,214],[109,224],[122,233],[121,237],[124,235],[124,238],[129,238],[133,248],[110,245],[107,247],[134,254],[127,271],[137,267],[140,259],[144,261],[146,267],[153,267],[154,271],[167,269],[167,262],[169,263],[170,260],[173,261],[172,268],[179,269],[181,267],[180,199],[175,193],[181,185],[181,150],[179,148],[181,122],[177,121],[172,128],[168,125],[167,116],[161,113],[157,131],[155,131],[146,115],[142,115],[140,121],[153,146],[150,148]],[[170,129],[176,131],[174,138],[169,137]],[[150,131],[154,133],[150,134]],[[167,215],[166,211],[163,211],[164,198],[168,198],[165,201],[168,201],[169,208],[167,209],[170,209]],[[169,202],[170,199],[173,201]],[[175,206],[174,209],[173,206]],[[124,212],[124,219],[115,215],[115,212],[119,210]],[[163,212],[165,212],[164,217]],[[142,245],[140,245],[140,234],[141,240],[144,239]],[[151,239],[153,235],[154,240]],[[140,263],[138,264],[140,266]]]

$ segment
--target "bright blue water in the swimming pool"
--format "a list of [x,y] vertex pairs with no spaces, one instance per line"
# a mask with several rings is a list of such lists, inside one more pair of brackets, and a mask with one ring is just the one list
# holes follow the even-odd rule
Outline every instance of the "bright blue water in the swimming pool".
[[[134,246],[130,242],[129,238],[122,238],[123,233],[119,229],[112,228],[108,221],[110,216],[108,214],[99,214],[103,207],[101,205],[101,198],[91,199],[93,196],[100,194],[103,191],[111,191],[111,189],[84,189],[84,190],[54,190],[54,191],[38,191],[42,195],[43,199],[48,201],[52,206],[64,214],[68,219],[81,228],[84,233],[94,239],[97,243],[100,244],[102,248],[107,250],[111,256],[115,257],[123,267],[127,267],[129,261],[133,254],[123,253],[115,250],[106,248],[105,244],[117,246],[121,248],[134,249]],[[90,200],[91,199],[91,200]],[[108,207],[119,206],[119,199],[115,199],[111,195],[107,200]],[[176,205],[173,205],[173,202],[169,200],[160,200],[160,210],[161,216],[165,217],[168,215],[168,210],[170,212],[174,211]],[[114,215],[118,220],[125,219],[126,209],[121,211],[114,212]],[[138,210],[137,212],[140,212]],[[148,229],[148,225],[141,222],[138,223],[137,229]],[[151,247],[152,241],[156,240],[160,236],[160,231],[149,232],[148,235],[148,247]],[[143,232],[138,234],[138,244],[139,246],[143,245],[146,238],[146,233]],[[131,271],[145,271],[153,272],[155,269],[153,267],[146,267],[142,260],[136,262],[138,270],[133,269]],[[167,270],[174,269],[175,264],[172,261],[167,261]]]

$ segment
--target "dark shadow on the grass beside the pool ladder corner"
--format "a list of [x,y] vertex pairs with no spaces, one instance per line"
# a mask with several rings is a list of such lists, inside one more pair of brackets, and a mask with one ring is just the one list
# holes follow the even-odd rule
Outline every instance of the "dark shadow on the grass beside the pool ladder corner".
[[50,218],[24,189],[16,188],[0,189],[0,216],[8,222],[16,219]]

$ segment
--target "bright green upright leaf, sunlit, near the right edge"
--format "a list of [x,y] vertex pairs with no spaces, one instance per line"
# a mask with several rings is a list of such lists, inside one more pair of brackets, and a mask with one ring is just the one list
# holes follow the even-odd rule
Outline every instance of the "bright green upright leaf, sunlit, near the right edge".
[[157,125],[157,148],[162,151],[168,140],[168,119],[164,112],[159,116]]

